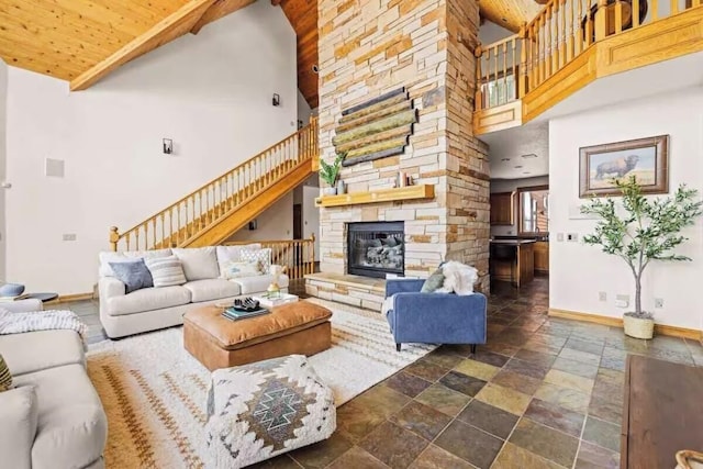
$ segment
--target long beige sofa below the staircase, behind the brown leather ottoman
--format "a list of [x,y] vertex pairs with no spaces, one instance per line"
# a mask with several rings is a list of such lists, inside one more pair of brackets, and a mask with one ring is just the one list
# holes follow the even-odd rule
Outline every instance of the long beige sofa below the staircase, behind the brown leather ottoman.
[[[261,250],[259,244],[210,246],[145,252],[100,253],[100,321],[111,338],[171,327],[183,323],[186,311],[236,297],[260,294],[274,277],[221,278],[221,266],[237,260],[242,249]],[[268,252],[270,256],[270,250]],[[123,282],[114,277],[109,263],[130,258],[155,258],[175,255],[181,261],[186,283],[176,287],[145,288],[125,293]],[[269,258],[270,264],[270,258]],[[279,277],[282,291],[288,291],[288,277]]]

